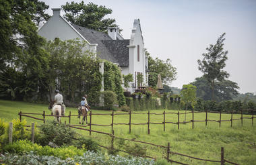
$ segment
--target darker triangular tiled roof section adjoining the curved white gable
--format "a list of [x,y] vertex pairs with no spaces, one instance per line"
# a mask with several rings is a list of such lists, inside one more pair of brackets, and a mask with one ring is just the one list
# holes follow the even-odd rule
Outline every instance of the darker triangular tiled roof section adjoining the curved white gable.
[[129,45],[130,40],[103,40],[106,48],[111,52],[120,66],[129,66]]

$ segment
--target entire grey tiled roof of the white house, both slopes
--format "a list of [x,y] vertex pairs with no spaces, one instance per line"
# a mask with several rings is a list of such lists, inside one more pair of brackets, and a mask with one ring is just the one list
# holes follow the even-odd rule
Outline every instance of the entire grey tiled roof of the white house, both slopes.
[[108,34],[90,30],[86,27],[72,24],[72,26],[91,44],[98,44],[97,56],[120,66],[129,66],[129,40],[112,40]]

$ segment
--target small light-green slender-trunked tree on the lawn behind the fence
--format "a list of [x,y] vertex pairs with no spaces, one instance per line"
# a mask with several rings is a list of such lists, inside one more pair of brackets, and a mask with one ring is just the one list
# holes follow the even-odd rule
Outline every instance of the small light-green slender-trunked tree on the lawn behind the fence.
[[181,100],[185,102],[186,105],[186,111],[185,111],[185,121],[186,121],[186,113],[187,113],[187,107],[189,103],[192,107],[195,106],[197,103],[196,101],[196,91],[197,87],[193,85],[183,85],[183,89],[181,90]]

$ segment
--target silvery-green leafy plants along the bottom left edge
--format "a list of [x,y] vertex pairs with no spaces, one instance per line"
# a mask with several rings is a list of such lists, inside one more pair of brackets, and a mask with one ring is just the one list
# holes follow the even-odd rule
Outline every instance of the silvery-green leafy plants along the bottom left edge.
[[75,158],[66,158],[65,160],[61,160],[60,158],[54,156],[37,156],[33,152],[29,154],[24,154],[22,156],[18,156],[15,154],[5,154],[0,156],[0,162],[4,164],[19,164],[19,165],[26,165],[26,164],[97,164],[97,165],[104,165],[104,164],[122,164],[122,165],[138,165],[138,164],[145,164],[145,165],[152,165],[154,164],[154,160],[148,160],[146,158],[133,158],[129,156],[128,158],[124,158],[122,156],[108,156],[103,155],[100,153],[94,152],[85,152],[83,156],[75,156]]

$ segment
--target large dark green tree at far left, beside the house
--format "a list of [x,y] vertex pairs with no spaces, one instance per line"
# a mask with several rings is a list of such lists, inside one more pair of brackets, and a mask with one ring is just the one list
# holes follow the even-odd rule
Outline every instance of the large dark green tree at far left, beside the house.
[[42,49],[45,42],[38,36],[35,22],[46,18],[46,8],[38,0],[0,1],[0,90],[10,91],[13,98],[37,91],[45,76],[48,55]]

